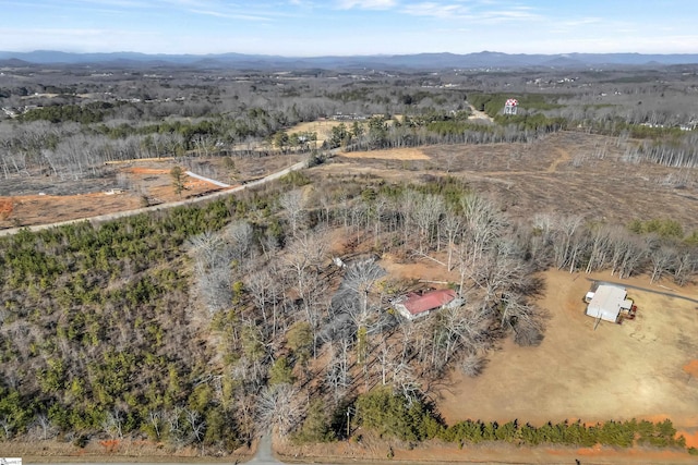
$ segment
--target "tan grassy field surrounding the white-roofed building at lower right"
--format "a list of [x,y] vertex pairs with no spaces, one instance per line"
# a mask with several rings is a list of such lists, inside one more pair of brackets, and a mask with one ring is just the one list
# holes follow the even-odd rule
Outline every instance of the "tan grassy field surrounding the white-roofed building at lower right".
[[[628,290],[638,305],[635,320],[622,325],[587,317],[581,297],[590,276],[544,273],[539,305],[550,313],[545,339],[538,347],[505,341],[491,353],[484,372],[445,380],[438,401],[448,421],[465,418],[543,424],[549,420],[669,417],[678,428],[698,428],[698,303]],[[612,280],[609,273],[591,276]],[[647,277],[624,280],[653,285]],[[698,299],[696,286],[676,294]]]

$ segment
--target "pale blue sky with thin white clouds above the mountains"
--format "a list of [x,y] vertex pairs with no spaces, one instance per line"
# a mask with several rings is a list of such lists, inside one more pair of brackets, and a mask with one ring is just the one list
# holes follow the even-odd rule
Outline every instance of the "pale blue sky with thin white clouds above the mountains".
[[697,0],[0,0],[0,50],[698,53]]

